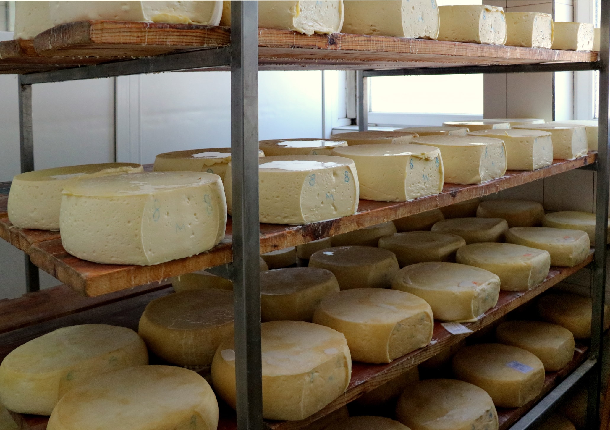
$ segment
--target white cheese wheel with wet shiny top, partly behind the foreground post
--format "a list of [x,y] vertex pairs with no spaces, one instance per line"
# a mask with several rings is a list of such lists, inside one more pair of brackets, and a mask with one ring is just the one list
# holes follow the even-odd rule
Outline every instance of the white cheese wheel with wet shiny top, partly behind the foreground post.
[[[231,213],[231,163],[224,178]],[[358,174],[350,159],[282,156],[259,159],[260,222],[309,224],[353,215],[358,209]]]

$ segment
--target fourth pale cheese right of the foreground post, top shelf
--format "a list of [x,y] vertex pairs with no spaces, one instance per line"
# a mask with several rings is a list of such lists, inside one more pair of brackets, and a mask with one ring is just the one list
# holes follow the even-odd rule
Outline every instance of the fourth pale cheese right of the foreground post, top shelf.
[[506,12],[506,43],[524,48],[550,48],[553,44],[553,16],[539,12]]

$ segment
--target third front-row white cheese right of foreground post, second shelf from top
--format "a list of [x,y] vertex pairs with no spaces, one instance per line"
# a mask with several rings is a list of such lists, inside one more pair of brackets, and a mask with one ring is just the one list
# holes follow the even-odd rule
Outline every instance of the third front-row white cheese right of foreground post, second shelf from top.
[[440,149],[445,169],[445,182],[450,184],[480,184],[506,173],[504,142],[479,136],[423,136],[413,143]]

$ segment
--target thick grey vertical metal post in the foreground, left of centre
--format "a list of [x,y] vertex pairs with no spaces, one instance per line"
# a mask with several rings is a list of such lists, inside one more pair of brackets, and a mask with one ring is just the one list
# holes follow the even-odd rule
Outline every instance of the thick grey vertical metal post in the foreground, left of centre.
[[262,430],[258,2],[231,1],[231,165],[237,428]]

